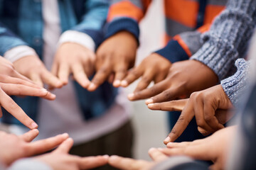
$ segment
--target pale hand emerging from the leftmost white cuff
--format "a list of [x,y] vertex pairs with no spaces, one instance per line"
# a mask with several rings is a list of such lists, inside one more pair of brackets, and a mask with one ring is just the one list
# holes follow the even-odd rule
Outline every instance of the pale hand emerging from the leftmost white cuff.
[[43,87],[43,83],[55,88],[63,86],[57,77],[48,72],[38,56],[29,55],[20,58],[14,62],[14,68],[23,76],[38,84],[38,86]]

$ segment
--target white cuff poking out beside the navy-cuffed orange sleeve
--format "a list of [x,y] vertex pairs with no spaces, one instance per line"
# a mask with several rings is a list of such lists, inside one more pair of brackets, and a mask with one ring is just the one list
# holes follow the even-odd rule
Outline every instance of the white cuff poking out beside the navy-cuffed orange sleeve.
[[86,33],[81,33],[76,30],[67,30],[61,36],[58,42],[58,45],[63,44],[64,42],[75,42],[84,47],[87,47],[89,50],[95,51],[95,42],[92,38]]

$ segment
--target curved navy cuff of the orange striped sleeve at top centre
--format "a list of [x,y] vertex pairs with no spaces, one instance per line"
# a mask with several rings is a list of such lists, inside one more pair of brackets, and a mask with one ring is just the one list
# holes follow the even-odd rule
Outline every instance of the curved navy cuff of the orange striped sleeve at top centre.
[[118,18],[111,23],[107,24],[107,33],[105,39],[110,38],[112,35],[118,33],[121,30],[126,30],[132,33],[136,38],[139,45],[139,23],[132,18]]

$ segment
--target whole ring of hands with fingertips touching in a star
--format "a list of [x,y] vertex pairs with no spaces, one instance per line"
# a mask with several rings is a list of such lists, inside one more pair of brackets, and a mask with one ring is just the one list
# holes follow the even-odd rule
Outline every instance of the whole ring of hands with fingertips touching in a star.
[[[218,139],[226,138],[221,141],[229,141],[235,127],[223,129],[223,124],[233,116],[228,111],[233,106],[222,86],[215,85],[218,84],[218,77],[196,60],[172,64],[156,53],[145,57],[134,67],[136,50],[135,38],[127,32],[120,32],[103,42],[96,54],[76,43],[60,45],[51,72],[38,56],[22,57],[14,63],[0,57],[1,106],[31,129],[21,136],[0,132],[1,161],[9,166],[23,157],[32,157],[46,162],[53,169],[91,169],[107,163],[119,169],[151,169],[168,157],[186,155],[211,160],[214,163],[211,168],[221,169],[225,162],[225,155],[221,151],[228,147],[228,142]],[[54,100],[56,96],[44,89],[43,84],[48,85],[48,89],[61,88],[68,84],[70,74],[88,91],[95,91],[105,81],[114,87],[127,87],[139,79],[134,92],[128,95],[130,101],[147,98],[146,105],[151,110],[182,111],[164,140],[166,148],[149,149],[153,161],[147,162],[108,155],[84,158],[70,155],[68,152],[73,140],[68,134],[31,142],[38,135],[38,125],[10,96],[38,96]],[[89,77],[92,77],[91,81]],[[154,86],[149,86],[151,81]],[[201,134],[213,135],[193,142],[174,142],[194,117]],[[33,157],[55,147],[53,152]],[[8,152],[4,152],[4,149]]]

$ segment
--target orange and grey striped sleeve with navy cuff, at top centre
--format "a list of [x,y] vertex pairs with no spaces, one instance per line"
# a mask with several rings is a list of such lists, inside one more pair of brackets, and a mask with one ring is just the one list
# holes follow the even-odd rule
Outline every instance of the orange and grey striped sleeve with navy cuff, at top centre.
[[126,30],[139,42],[139,21],[144,17],[149,4],[151,0],[112,0],[107,15],[105,38]]

